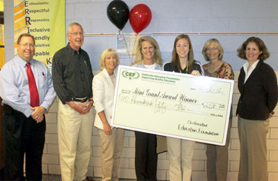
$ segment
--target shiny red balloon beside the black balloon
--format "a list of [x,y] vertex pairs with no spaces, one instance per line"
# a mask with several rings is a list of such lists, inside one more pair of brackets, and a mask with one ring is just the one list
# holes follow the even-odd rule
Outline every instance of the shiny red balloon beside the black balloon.
[[145,29],[151,20],[152,11],[143,3],[134,6],[129,13],[129,23],[135,33],[140,33],[143,29]]

